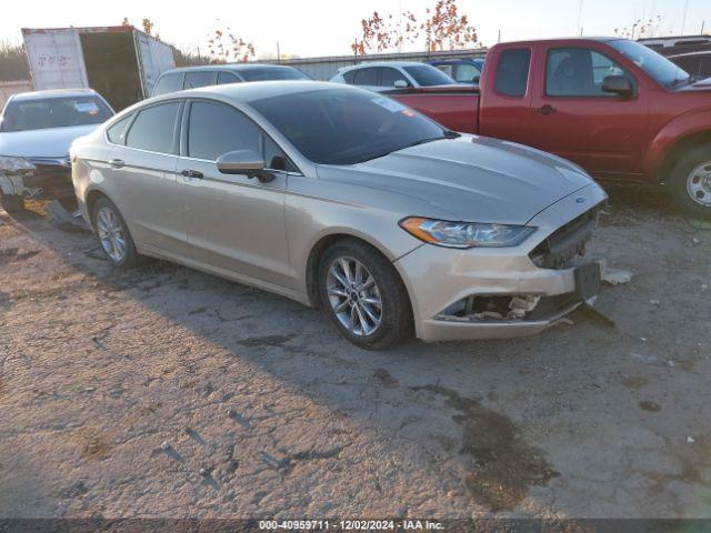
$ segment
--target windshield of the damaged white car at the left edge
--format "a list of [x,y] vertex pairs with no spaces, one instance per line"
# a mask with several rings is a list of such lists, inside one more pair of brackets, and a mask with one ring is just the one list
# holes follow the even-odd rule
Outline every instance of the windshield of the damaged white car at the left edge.
[[6,108],[0,131],[100,124],[112,114],[109,107],[96,97],[20,100],[10,102]]

